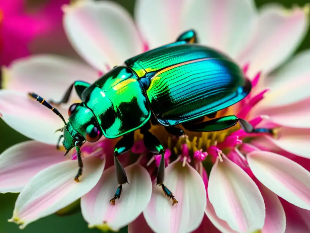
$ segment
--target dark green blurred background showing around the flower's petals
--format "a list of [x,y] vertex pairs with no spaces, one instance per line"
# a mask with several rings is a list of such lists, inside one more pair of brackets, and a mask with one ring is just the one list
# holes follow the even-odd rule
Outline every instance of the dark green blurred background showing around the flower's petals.
[[[0,0],[2,1],[2,0]],[[52,1],[52,0],[51,0]],[[156,1],[156,0],[154,0]],[[238,1],[238,0],[236,0]],[[131,14],[133,14],[133,10],[135,7],[135,0],[114,0],[114,2],[118,2],[122,6],[124,6]],[[285,7],[289,8],[294,4],[299,6],[304,6],[309,1],[307,0],[256,0],[257,7],[262,6],[265,3],[270,2],[279,2],[283,4]],[[304,50],[310,47],[310,33],[308,32],[305,40],[300,45],[298,51]],[[12,130],[9,126],[7,126],[2,120],[0,120],[0,132],[1,132],[1,140],[0,140],[0,153],[2,153],[6,148],[14,145],[18,142],[22,142],[25,140],[29,140],[28,138],[20,135],[15,130]],[[15,232],[23,232],[23,233],[68,233],[68,232],[100,232],[97,229],[88,229],[86,222],[83,220],[81,212],[77,212],[75,214],[60,217],[57,215],[51,215],[45,218],[42,218],[34,223],[31,223],[24,230],[19,230],[18,226],[14,223],[7,222],[7,219],[11,218],[12,211],[14,209],[14,203],[18,194],[0,194],[0,232],[2,233],[15,233]],[[127,232],[127,228],[121,229],[120,232]]]

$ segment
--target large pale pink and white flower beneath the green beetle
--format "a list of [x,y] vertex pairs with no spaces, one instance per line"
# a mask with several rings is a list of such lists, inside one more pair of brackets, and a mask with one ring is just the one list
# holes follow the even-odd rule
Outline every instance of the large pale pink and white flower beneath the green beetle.
[[[51,56],[29,57],[8,67],[7,89],[0,91],[2,119],[40,142],[15,145],[0,156],[0,166],[5,168],[0,190],[21,191],[12,221],[25,226],[81,197],[82,214],[90,227],[117,230],[129,223],[129,232],[139,227],[144,232],[277,233],[296,232],[302,226],[308,232],[303,216],[310,210],[306,120],[310,53],[305,51],[287,61],[308,29],[308,7],[284,12],[279,6],[267,5],[257,13],[248,0],[184,1],[177,5],[140,0],[135,10],[138,29],[128,13],[113,3],[89,1],[64,7],[68,38],[93,68]],[[54,149],[59,135],[53,133],[61,127],[61,120],[29,100],[26,93],[60,99],[74,80],[92,82],[98,71],[106,72],[146,48],[170,43],[188,28],[197,31],[201,43],[235,59],[252,82],[249,96],[218,112],[217,117],[236,114],[254,127],[273,130],[247,134],[236,126],[201,134],[186,131],[188,137],[178,139],[153,126],[152,132],[171,152],[165,154],[170,162],[165,185],[178,200],[175,205],[163,197],[160,187],[154,184],[151,188],[148,174],[154,178],[157,156],[145,150],[142,136],[136,133],[133,152],[142,156],[125,168],[130,185],[124,186],[121,199],[113,206],[108,200],[117,182],[108,159],[114,142],[104,139],[82,147],[86,157],[83,179],[88,182],[74,183],[76,161],[64,161]],[[38,84],[42,77],[44,86]],[[65,107],[59,110],[68,117]],[[37,164],[36,159],[45,162]],[[25,174],[22,179],[20,172]]]

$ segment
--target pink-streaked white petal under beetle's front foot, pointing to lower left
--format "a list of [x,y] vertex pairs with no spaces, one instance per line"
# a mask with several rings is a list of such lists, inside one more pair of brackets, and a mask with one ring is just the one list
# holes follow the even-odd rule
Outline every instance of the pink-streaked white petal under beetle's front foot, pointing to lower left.
[[88,193],[100,179],[105,160],[89,157],[83,159],[83,164],[80,182],[73,179],[78,171],[76,160],[55,164],[37,173],[18,196],[9,221],[24,228]]

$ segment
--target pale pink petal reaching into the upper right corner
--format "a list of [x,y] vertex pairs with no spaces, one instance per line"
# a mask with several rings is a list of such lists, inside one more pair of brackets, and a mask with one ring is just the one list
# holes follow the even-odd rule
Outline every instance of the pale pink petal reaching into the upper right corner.
[[268,72],[284,62],[302,41],[308,28],[308,8],[265,6],[259,14],[257,35],[238,59],[250,63],[248,75]]

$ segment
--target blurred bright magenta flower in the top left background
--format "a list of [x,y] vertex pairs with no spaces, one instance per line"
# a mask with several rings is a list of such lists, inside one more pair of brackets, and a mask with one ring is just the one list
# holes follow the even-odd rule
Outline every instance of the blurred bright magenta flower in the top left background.
[[73,55],[60,7],[69,0],[0,2],[0,65],[33,53]]

